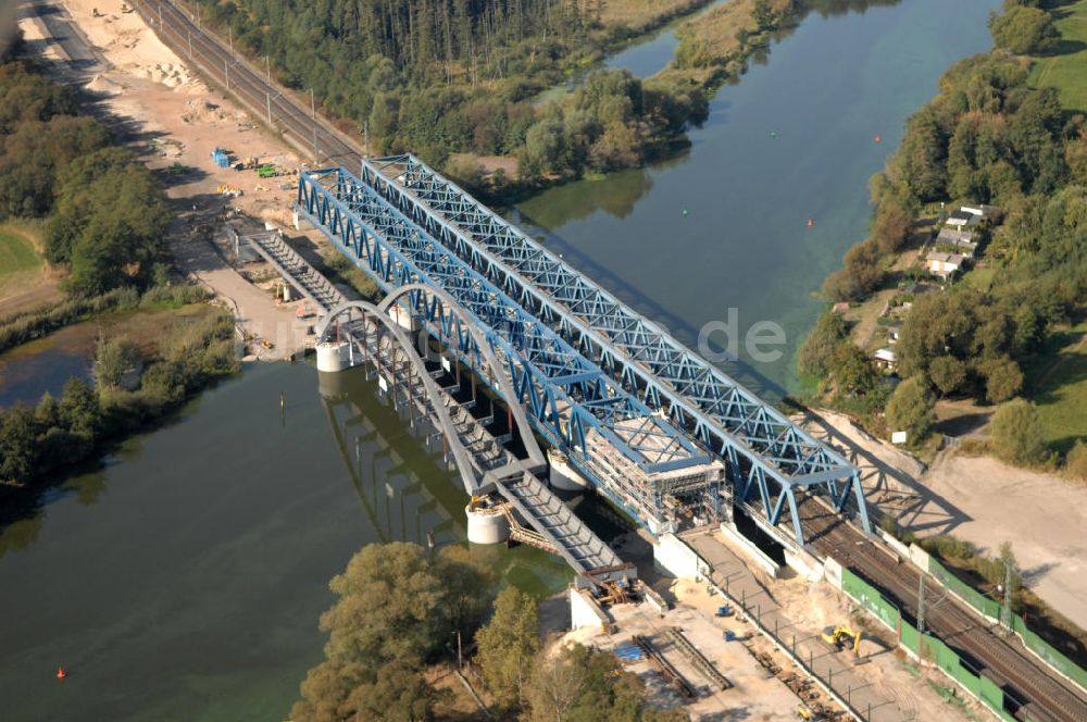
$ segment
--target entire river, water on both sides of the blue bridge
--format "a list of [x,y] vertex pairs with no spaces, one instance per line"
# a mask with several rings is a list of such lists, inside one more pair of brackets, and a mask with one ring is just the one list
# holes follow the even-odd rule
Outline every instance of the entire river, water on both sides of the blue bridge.
[[[998,4],[813,14],[717,95],[689,151],[515,214],[684,338],[729,307],[742,327],[780,323],[783,359],[738,368],[780,391],[811,291],[864,233],[867,177],[940,73],[988,45]],[[323,397],[308,364],[249,366],[0,533],[4,719],[284,719],[350,556],[427,530],[463,539],[454,475],[358,373],[338,381]],[[529,589],[569,578],[532,549],[479,553]]]

